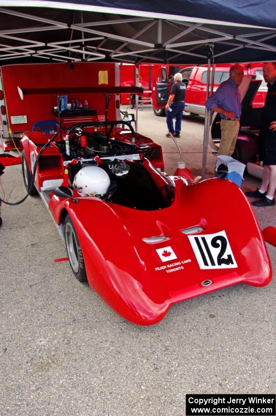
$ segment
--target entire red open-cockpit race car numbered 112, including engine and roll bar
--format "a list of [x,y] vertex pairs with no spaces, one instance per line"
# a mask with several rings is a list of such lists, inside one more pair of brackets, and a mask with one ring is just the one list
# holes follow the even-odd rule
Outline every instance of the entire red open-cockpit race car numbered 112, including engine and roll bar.
[[162,174],[160,147],[120,123],[21,139],[25,186],[46,203],[75,277],[139,325],[229,285],[268,284],[269,256],[240,188]]

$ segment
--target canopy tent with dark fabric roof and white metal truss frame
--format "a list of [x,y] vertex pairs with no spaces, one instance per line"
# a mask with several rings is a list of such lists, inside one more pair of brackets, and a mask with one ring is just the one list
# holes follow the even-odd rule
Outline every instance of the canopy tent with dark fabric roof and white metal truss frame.
[[[0,65],[276,60],[275,0],[0,0]],[[206,117],[203,170],[207,159]]]

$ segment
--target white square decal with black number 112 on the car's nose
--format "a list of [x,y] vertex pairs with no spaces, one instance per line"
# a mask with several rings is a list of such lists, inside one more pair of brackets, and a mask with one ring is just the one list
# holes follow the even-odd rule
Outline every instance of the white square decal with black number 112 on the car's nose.
[[225,231],[188,235],[201,269],[234,269],[237,266]]

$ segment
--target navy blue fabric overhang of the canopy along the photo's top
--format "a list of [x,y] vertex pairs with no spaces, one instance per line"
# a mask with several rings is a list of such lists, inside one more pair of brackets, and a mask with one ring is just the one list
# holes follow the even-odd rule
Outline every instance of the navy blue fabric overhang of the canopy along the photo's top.
[[[11,7],[13,1],[0,1]],[[258,27],[276,28],[276,1],[275,0],[37,0],[20,1],[16,4],[56,7],[63,3],[63,7],[74,7],[77,10],[101,11],[108,13],[108,9],[120,10],[123,14],[134,14],[145,17],[143,12],[161,18],[161,15],[177,16],[178,18],[191,18],[193,21],[217,21],[235,23],[240,25],[253,25]]]

